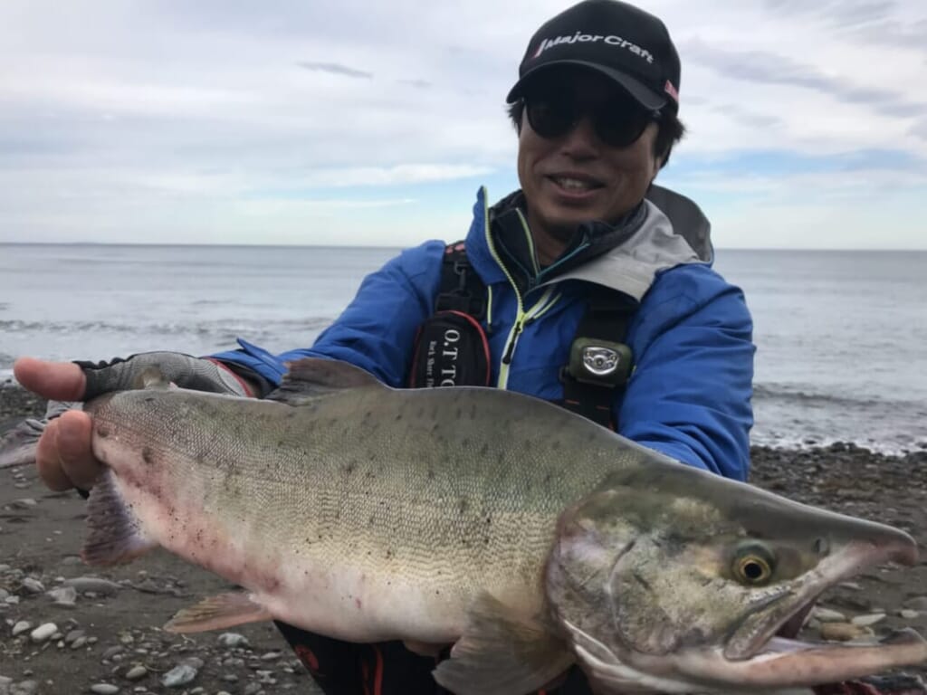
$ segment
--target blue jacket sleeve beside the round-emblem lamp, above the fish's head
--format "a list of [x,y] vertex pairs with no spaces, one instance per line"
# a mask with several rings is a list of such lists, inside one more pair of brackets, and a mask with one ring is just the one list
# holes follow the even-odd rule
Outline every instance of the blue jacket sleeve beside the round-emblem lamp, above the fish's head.
[[675,269],[644,297],[638,317],[620,433],[683,463],[745,480],[755,347],[743,293],[705,266]]

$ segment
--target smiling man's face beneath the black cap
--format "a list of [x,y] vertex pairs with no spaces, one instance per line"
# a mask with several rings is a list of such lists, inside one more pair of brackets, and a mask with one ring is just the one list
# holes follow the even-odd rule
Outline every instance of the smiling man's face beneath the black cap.
[[[535,234],[549,234],[565,242],[578,224],[617,221],[641,202],[660,161],[654,156],[657,125],[640,105],[602,75],[576,68],[551,69],[528,84],[524,94],[527,108],[518,138],[518,179]],[[565,133],[543,137],[532,128],[527,115],[532,101],[541,104],[534,111],[539,116],[536,125],[545,122],[540,117],[551,112],[552,118],[546,122],[555,123],[558,115],[563,115],[564,104],[567,113],[568,105],[573,104],[581,117]],[[552,108],[545,110],[545,102]],[[597,132],[595,120],[616,125],[619,134],[622,129],[631,137],[642,132],[633,142],[609,144],[601,137],[602,129]]]

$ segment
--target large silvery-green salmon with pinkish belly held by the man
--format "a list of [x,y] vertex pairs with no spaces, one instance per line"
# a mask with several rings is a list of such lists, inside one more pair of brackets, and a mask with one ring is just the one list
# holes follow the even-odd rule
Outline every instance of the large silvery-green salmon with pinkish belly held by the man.
[[777,637],[835,582],[916,562],[889,526],[501,390],[394,390],[328,360],[290,365],[271,400],[148,376],[85,405],[108,471],[83,557],[163,546],[248,590],[179,613],[175,631],[277,618],[453,643],[435,677],[462,695],[526,693],[574,662],[604,693],[743,693],[927,661],[911,631],[868,646]]

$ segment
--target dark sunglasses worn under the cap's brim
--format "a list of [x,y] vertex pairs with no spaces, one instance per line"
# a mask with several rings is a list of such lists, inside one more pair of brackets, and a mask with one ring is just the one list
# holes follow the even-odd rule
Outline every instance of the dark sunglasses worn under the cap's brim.
[[618,93],[590,103],[566,87],[533,90],[523,99],[531,130],[547,140],[572,132],[588,117],[605,145],[627,147],[641,137],[649,123],[660,118],[659,111],[647,111],[630,96]]

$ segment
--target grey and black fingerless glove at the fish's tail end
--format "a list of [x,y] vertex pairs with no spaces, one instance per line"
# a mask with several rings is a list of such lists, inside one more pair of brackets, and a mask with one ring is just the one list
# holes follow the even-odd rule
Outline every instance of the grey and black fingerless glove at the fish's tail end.
[[[204,358],[191,357],[180,352],[142,352],[125,359],[116,358],[108,362],[77,361],[87,377],[84,400],[111,391],[126,391],[140,388],[142,373],[155,367],[167,381],[181,388],[210,393],[225,393],[235,396],[254,396],[252,388],[244,379],[221,363]],[[249,382],[260,388],[257,375],[248,375]]]

